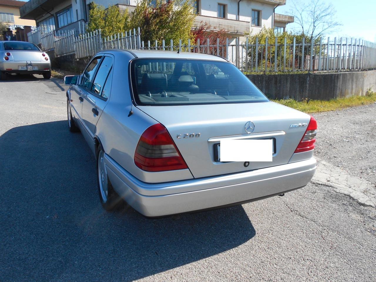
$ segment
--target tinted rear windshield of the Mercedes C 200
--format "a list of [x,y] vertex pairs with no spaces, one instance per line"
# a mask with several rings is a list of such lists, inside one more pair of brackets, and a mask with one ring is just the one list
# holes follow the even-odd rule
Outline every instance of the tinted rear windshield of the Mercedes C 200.
[[131,65],[138,105],[267,102],[262,92],[229,62],[135,59]]

